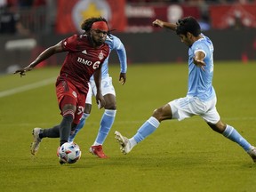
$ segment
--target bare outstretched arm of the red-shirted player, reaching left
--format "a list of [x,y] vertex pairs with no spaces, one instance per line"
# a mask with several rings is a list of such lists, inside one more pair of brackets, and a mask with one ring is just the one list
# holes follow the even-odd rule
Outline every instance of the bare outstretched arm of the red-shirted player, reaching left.
[[57,52],[64,52],[64,49],[62,48],[61,42],[58,44],[55,44],[49,48],[47,48],[44,52],[42,52],[36,60],[33,60],[27,67],[25,68],[20,68],[14,72],[14,74],[19,73],[20,76],[26,76],[26,72],[32,70],[33,68],[36,67],[40,62],[43,60],[48,59],[51,57],[53,54]]

